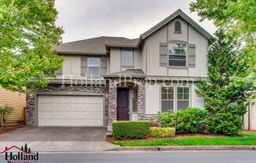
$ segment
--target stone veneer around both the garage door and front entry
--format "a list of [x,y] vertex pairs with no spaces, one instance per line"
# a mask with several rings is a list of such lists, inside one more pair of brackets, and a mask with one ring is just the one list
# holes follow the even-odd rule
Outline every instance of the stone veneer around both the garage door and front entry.
[[[27,125],[35,125],[35,93],[36,92],[52,92],[52,91],[79,91],[79,92],[95,92],[108,94],[105,99],[105,118],[104,125],[112,125],[112,121],[117,119],[117,103],[116,103],[116,91],[118,88],[119,80],[109,80],[108,86],[62,86],[62,85],[49,85],[46,88],[36,88],[27,96]],[[121,81],[122,82],[122,81]],[[147,120],[145,117],[145,82],[139,79],[134,81],[137,86],[137,98],[138,98],[138,119]],[[30,95],[34,96],[30,96]]]

